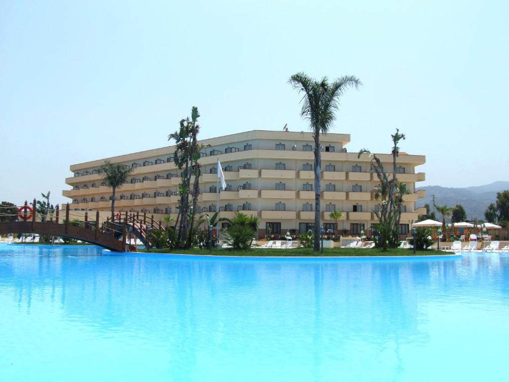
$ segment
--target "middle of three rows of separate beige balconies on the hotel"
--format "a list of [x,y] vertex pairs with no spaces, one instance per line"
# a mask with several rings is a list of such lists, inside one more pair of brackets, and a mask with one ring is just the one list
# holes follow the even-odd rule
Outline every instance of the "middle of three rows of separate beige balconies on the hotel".
[[[136,183],[137,184],[137,183]],[[100,187],[99,187],[100,188]],[[85,189],[87,190],[87,189]],[[90,190],[90,189],[89,189]],[[82,189],[72,189],[65,190],[62,194],[66,197],[76,197],[81,194]],[[124,187],[122,187],[122,192],[126,191]],[[88,193],[88,195],[91,195]],[[219,193],[219,200],[236,200],[236,199],[305,199],[305,200],[315,200],[315,192],[314,191],[294,191],[294,190],[277,190],[277,189],[239,189],[238,191],[224,191],[222,190]],[[414,194],[404,195],[403,201],[405,202],[416,202],[418,199],[426,197],[426,190],[419,189]],[[145,197],[138,199],[121,199],[120,195],[117,195],[118,200],[116,203],[119,203],[119,206],[131,206],[137,204],[168,204],[168,203],[178,203],[179,196],[157,196],[157,197]],[[199,202],[206,201],[214,201],[217,199],[216,193],[201,193],[198,197]],[[369,201],[376,200],[375,192],[343,192],[343,191],[322,191],[321,193],[322,200],[354,200],[354,201]],[[97,202],[93,202],[97,203]],[[109,201],[107,202],[109,203]]]

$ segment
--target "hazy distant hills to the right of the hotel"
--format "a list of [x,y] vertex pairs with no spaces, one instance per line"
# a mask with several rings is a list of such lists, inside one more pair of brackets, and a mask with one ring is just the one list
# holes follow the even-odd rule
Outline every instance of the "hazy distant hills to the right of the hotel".
[[[419,199],[416,202],[417,207],[422,207],[426,203],[433,205],[433,195],[435,201],[439,205],[447,205],[454,207],[461,204],[467,212],[467,219],[472,220],[474,217],[484,220],[484,211],[490,203],[495,203],[497,193],[509,189],[509,182],[498,181],[482,186],[472,186],[464,188],[426,186],[416,189],[425,189],[426,198]],[[437,217],[440,217],[437,215]]]

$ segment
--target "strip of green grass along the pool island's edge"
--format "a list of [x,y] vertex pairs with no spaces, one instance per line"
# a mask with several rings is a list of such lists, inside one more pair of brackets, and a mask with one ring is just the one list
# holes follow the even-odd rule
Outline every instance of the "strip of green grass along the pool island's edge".
[[[138,252],[147,252],[146,249],[140,249]],[[183,255],[216,255],[216,256],[413,256],[412,250],[403,249],[389,249],[383,252],[379,248],[371,249],[354,249],[354,248],[325,248],[323,255],[320,252],[313,252],[312,248],[293,248],[293,249],[253,249],[253,250],[233,250],[233,249],[214,249],[212,252],[209,250],[202,250],[193,248],[192,250],[180,250],[168,248],[165,249],[151,249],[151,253],[172,253]],[[430,255],[451,255],[451,252],[444,251],[416,251],[416,256],[430,256]]]

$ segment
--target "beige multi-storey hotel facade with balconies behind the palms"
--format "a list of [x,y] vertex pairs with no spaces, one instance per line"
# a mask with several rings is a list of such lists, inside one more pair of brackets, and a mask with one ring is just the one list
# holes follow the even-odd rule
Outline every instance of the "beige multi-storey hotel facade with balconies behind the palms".
[[[335,230],[331,210],[343,211],[337,229],[341,234],[357,235],[361,224],[367,229],[376,223],[374,214],[379,201],[375,189],[379,184],[370,171],[367,155],[347,152],[349,134],[322,135],[321,209],[326,229]],[[201,141],[202,175],[200,177],[200,212],[216,210],[217,158],[224,171],[227,189],[220,190],[220,216],[233,217],[236,211],[260,218],[259,234],[267,224],[272,233],[307,231],[314,222],[315,190],[313,172],[313,137],[309,132],[254,130]],[[107,158],[114,163],[134,166],[129,182],[117,190],[118,211],[133,211],[177,217],[177,189],[180,170],[175,166],[174,146]],[[386,168],[392,168],[390,154],[377,154]],[[110,208],[111,189],[103,185],[98,169],[105,159],[72,165],[74,176],[66,183],[72,189],[63,195],[72,199],[71,209],[99,210],[106,216]],[[426,211],[415,208],[425,197],[415,192],[415,183],[425,180],[415,168],[425,163],[425,156],[401,153],[398,158],[398,180],[411,191],[404,197],[401,233],[407,225]],[[346,230],[346,231],[344,231]]]

